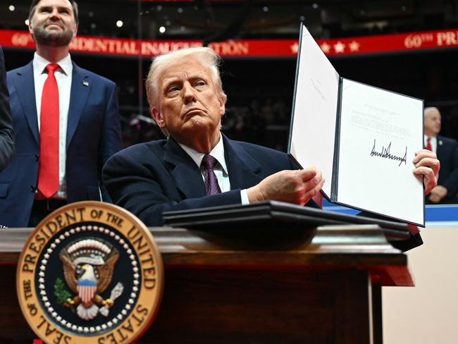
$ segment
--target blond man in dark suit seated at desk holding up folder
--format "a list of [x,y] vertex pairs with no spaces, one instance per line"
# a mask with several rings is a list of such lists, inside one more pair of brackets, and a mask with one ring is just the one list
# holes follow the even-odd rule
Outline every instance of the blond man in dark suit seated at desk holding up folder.
[[[151,115],[168,140],[129,147],[104,167],[113,201],[147,226],[163,224],[162,213],[169,210],[264,200],[316,207],[311,198],[325,181],[320,171],[297,170],[285,153],[221,134],[226,95],[218,62],[209,48],[156,57],[147,95]],[[431,190],[435,154],[421,151],[414,162],[415,173],[427,176]]]

